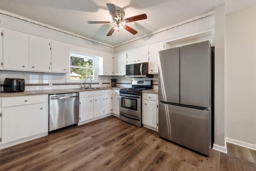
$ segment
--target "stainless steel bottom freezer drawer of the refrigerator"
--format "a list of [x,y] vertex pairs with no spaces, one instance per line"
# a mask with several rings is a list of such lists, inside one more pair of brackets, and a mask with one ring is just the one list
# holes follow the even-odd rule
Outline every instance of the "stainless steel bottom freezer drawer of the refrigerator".
[[159,103],[160,137],[209,155],[209,111]]

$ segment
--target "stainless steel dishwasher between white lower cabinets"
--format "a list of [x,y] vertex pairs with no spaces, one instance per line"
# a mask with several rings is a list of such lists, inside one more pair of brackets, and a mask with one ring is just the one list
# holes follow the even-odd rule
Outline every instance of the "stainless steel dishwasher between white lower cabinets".
[[49,95],[49,133],[78,122],[79,93]]

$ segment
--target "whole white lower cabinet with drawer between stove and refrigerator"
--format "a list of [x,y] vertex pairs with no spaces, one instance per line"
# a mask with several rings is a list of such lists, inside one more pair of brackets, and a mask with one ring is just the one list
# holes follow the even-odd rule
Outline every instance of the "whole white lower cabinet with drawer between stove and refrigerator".
[[157,96],[156,94],[143,93],[142,100],[142,123],[154,129],[158,129]]

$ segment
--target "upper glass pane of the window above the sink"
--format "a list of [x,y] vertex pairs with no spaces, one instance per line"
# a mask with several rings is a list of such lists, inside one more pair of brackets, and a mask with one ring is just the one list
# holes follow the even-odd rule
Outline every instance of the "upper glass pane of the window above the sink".
[[93,58],[92,57],[79,58],[75,56],[70,56],[70,66],[92,68]]

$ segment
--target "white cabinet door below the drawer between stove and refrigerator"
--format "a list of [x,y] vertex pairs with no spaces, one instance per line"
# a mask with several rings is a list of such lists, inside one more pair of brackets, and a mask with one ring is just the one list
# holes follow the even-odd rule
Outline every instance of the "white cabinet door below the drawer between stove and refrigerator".
[[142,123],[157,128],[157,102],[143,100]]

